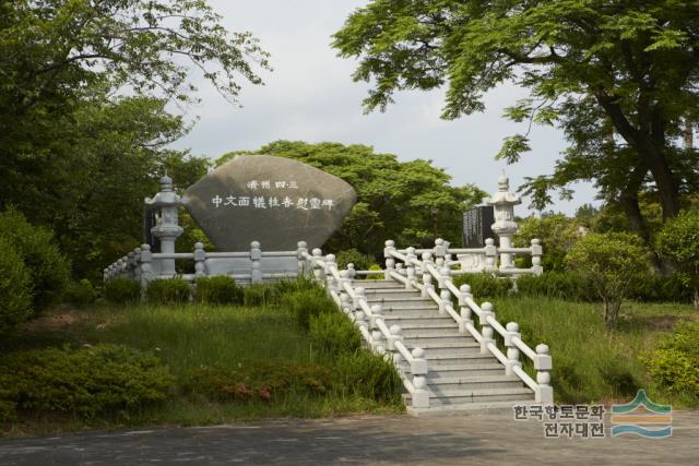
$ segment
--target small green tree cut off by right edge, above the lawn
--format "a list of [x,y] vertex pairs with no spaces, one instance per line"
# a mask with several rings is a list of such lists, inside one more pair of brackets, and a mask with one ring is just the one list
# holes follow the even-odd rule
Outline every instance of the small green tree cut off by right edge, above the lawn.
[[687,274],[695,290],[695,308],[699,309],[699,211],[684,212],[665,223],[655,246]]

